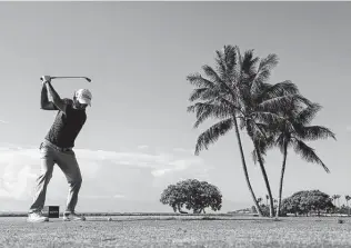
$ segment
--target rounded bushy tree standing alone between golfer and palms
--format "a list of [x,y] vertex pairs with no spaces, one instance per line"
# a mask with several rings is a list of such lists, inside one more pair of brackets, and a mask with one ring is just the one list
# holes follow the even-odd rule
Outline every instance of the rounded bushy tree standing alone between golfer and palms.
[[174,212],[182,214],[182,208],[185,207],[194,214],[205,214],[204,209],[208,207],[213,211],[221,209],[222,195],[215,186],[207,181],[188,179],[168,186],[161,194],[160,201],[172,207]]

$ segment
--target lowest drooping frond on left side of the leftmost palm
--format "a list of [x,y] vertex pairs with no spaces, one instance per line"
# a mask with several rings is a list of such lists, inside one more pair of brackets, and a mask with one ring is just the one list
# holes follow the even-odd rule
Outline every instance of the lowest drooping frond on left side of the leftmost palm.
[[214,143],[220,136],[224,136],[228,131],[231,130],[232,127],[232,118],[222,120],[210,127],[208,130],[199,136],[194,153],[199,155],[201,150],[208,149],[209,145]]

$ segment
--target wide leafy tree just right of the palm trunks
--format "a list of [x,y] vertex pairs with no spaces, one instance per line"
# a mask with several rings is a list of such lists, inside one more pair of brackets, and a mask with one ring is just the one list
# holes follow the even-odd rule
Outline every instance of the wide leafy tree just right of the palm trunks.
[[329,195],[320,190],[303,190],[282,200],[281,214],[308,215],[310,212],[328,211],[334,206]]

